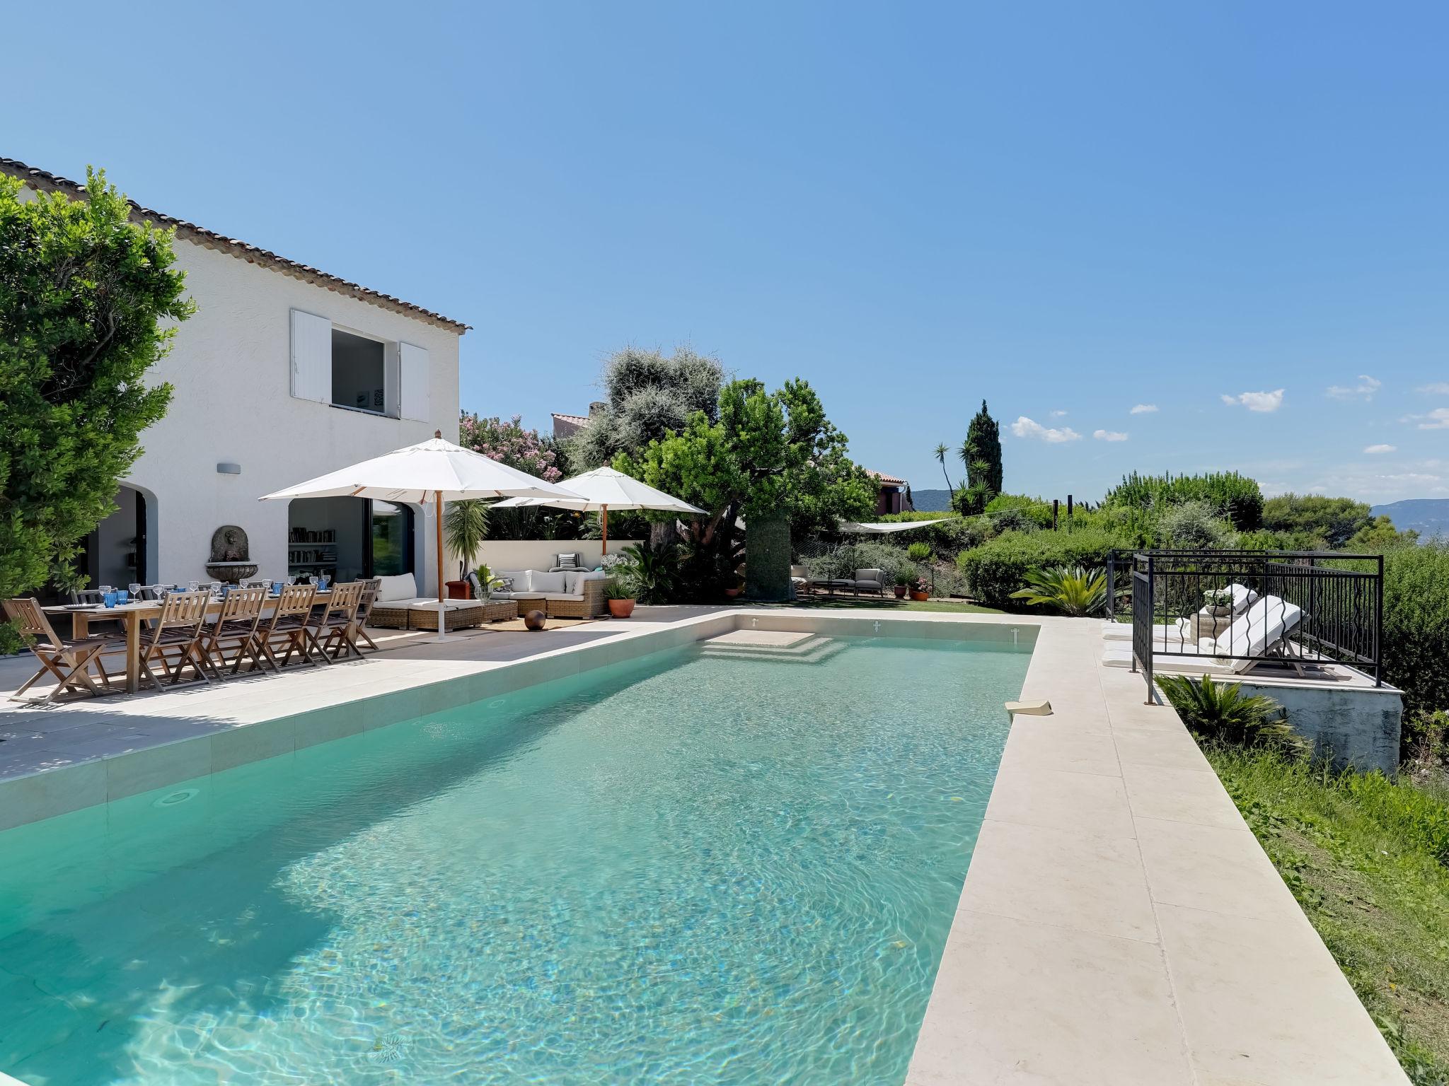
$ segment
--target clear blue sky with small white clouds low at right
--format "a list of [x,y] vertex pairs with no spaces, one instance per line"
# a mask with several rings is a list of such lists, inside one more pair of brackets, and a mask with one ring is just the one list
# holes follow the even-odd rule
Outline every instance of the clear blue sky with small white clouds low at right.
[[468,321],[471,410],[690,343],[917,488],[984,397],[1013,491],[1449,495],[1449,6],[88,7],[0,153]]

